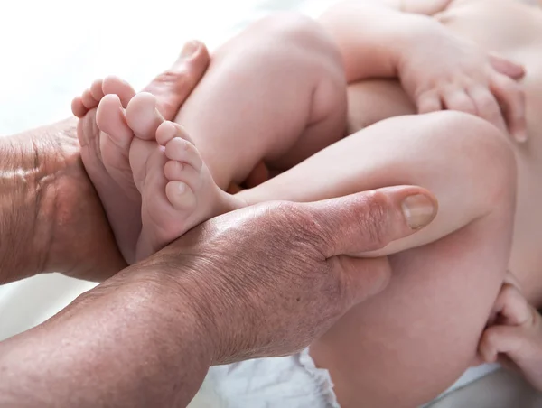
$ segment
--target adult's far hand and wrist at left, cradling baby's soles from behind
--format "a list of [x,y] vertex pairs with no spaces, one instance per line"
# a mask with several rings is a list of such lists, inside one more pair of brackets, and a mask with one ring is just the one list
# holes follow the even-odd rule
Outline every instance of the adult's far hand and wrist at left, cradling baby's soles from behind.
[[[198,42],[146,88],[173,118],[209,64]],[[186,51],[186,50],[185,50]],[[44,272],[104,280],[126,266],[81,159],[77,121],[0,138],[0,284]],[[88,141],[89,144],[98,139]],[[95,152],[99,162],[99,149]]]

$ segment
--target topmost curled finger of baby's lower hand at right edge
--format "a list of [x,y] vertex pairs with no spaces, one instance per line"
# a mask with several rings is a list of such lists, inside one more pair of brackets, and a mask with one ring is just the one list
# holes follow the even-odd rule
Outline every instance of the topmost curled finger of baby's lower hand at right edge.
[[509,283],[502,285],[494,310],[500,315],[500,324],[519,326],[532,318],[528,301],[516,286]]

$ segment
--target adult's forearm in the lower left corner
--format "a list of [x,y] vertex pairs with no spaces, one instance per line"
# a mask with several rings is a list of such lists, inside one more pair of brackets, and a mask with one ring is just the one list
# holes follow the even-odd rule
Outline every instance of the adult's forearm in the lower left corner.
[[186,406],[210,346],[182,293],[131,267],[0,345],[0,406]]

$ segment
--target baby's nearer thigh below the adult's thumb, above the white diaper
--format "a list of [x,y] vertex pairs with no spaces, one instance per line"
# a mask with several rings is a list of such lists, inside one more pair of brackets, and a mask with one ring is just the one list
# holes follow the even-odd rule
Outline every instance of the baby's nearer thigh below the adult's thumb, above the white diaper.
[[419,406],[462,375],[506,264],[491,248],[495,242],[480,243],[501,232],[474,224],[390,256],[387,290],[311,347],[318,366],[330,370],[341,406]]

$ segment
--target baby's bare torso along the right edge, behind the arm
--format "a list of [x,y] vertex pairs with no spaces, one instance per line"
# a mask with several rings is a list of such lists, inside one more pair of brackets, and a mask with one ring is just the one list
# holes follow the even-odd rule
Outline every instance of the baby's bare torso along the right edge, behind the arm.
[[523,64],[529,141],[516,145],[519,191],[510,269],[542,303],[542,9],[519,0],[454,0],[436,18],[488,51]]

